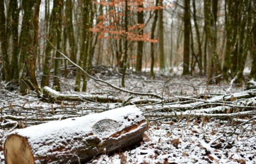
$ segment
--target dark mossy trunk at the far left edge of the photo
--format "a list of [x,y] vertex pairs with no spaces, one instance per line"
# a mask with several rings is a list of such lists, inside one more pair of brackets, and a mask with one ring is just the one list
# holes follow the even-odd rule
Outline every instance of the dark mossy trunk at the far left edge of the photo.
[[6,32],[6,21],[4,13],[4,0],[0,0],[0,41],[1,41],[1,52],[3,54],[3,73],[5,81],[8,82],[11,80],[10,73],[10,63],[8,57],[8,46],[7,46],[7,32]]

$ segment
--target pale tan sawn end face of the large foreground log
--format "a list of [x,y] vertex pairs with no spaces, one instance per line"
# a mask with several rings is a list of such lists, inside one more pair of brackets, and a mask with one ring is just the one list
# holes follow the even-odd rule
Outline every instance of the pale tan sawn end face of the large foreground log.
[[6,164],[34,164],[34,157],[25,137],[12,134],[4,142]]

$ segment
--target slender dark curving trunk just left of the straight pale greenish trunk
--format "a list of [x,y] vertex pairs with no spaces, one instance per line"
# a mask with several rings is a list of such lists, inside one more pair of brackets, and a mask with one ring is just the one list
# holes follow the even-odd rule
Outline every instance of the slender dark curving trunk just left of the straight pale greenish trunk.
[[[158,5],[158,0],[155,0],[155,5]],[[155,27],[157,26],[157,18],[158,18],[158,10],[154,11],[155,17],[154,17],[154,21],[151,27],[151,39],[155,39]],[[154,48],[154,43],[151,42],[150,43],[150,55],[151,55],[151,66],[150,66],[150,78],[154,78],[155,74],[154,74],[154,63],[155,63],[155,48]]]

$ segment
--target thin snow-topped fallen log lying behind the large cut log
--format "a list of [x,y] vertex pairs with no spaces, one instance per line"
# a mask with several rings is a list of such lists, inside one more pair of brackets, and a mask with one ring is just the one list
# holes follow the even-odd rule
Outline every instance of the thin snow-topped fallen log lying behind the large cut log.
[[85,93],[59,93],[58,91],[51,89],[48,86],[44,87],[43,90],[44,97],[48,97],[54,101],[97,101],[97,102],[121,102],[120,98],[113,96],[103,96],[103,95],[92,95]]

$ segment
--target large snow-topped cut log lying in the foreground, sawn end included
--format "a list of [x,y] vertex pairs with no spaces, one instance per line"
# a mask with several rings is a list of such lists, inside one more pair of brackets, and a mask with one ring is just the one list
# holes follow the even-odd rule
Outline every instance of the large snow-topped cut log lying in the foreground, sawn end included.
[[136,106],[17,129],[4,143],[6,164],[84,163],[135,144],[146,122]]

